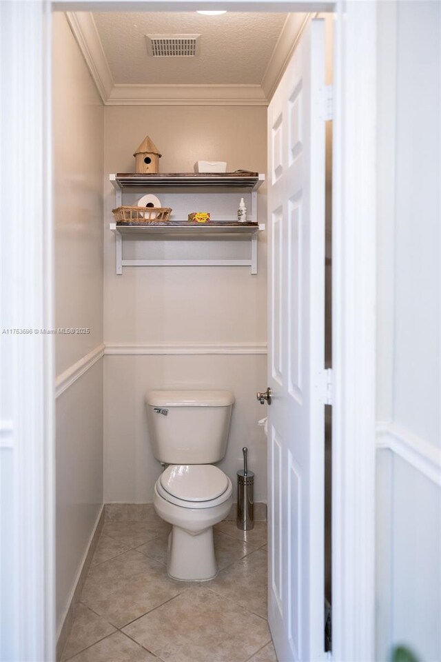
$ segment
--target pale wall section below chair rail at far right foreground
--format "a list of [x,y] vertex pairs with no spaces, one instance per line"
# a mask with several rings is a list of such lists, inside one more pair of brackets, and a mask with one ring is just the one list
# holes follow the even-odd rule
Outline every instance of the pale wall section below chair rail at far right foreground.
[[441,653],[441,490],[393,457],[393,639],[420,660]]

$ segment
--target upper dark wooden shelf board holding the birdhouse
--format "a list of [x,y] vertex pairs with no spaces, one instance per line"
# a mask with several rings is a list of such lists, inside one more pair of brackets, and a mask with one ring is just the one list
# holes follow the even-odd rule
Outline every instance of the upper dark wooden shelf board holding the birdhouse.
[[139,192],[139,190],[168,189],[184,192],[201,189],[205,192],[228,190],[250,193],[257,191],[265,181],[264,174],[258,172],[169,172],[137,174],[119,172],[110,174],[109,179],[116,190]]

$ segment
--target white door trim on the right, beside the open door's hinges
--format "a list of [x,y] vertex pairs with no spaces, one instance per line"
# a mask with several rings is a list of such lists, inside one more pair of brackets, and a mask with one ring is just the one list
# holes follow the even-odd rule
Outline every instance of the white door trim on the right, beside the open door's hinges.
[[338,662],[366,662],[375,659],[376,3],[343,5],[334,38],[333,651]]

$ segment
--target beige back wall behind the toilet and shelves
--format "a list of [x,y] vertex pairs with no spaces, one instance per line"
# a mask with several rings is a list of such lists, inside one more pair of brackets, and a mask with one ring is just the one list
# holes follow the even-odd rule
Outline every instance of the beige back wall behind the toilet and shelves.
[[[132,153],[148,134],[163,154],[161,172],[192,172],[198,159],[223,160],[228,170],[266,172],[266,108],[106,107],[105,177],[131,172]],[[174,213],[208,210],[236,214],[240,195],[195,197],[158,194]],[[136,199],[127,196],[125,201]],[[105,184],[105,228],[115,198]],[[265,192],[259,194],[259,220],[265,222]],[[258,275],[240,267],[136,267],[115,274],[113,235],[105,230],[105,341],[143,344],[265,343],[266,241],[259,237]],[[246,248],[246,247],[242,247]],[[136,242],[125,254],[146,257],[227,259],[237,244],[203,242],[172,245]],[[138,348],[138,349],[136,349]],[[166,348],[165,348],[165,351]],[[147,388],[229,388],[236,395],[227,456],[220,465],[236,482],[241,448],[249,445],[256,472],[256,499],[266,500],[266,443],[256,426],[265,409],[256,390],[266,388],[266,357],[115,356],[105,357],[105,501],[152,501],[160,465],[147,437],[144,393]]]

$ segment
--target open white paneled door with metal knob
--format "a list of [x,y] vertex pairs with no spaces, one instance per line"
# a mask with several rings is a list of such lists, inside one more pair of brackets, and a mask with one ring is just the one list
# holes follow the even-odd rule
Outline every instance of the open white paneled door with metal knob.
[[325,25],[268,110],[269,623],[278,659],[324,652]]

